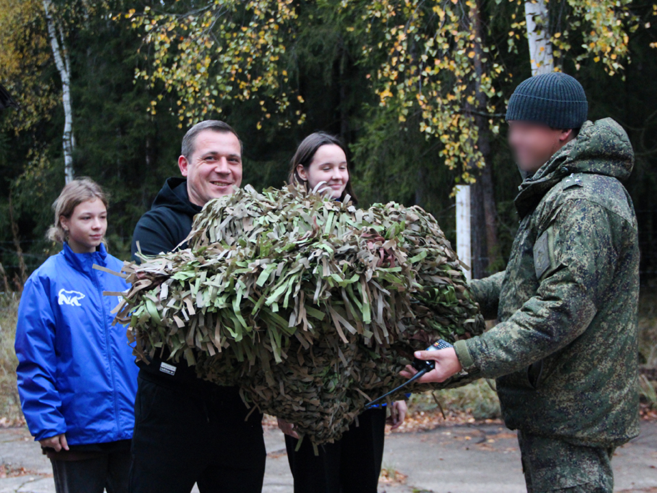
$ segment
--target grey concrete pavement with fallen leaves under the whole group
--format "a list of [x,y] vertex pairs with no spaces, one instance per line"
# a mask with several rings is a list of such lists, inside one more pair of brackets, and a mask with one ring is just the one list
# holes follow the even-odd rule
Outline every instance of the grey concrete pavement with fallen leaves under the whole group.
[[[266,429],[268,452],[263,493],[292,493],[283,435]],[[50,463],[27,430],[0,430],[0,460],[27,474],[0,478],[0,493],[54,493]],[[657,493],[657,422],[643,422],[641,435],[619,448],[613,460],[616,491]],[[381,483],[381,493],[521,493],[524,479],[515,433],[500,425],[441,427],[391,433],[383,467],[402,482]],[[195,490],[197,491],[197,490]]]

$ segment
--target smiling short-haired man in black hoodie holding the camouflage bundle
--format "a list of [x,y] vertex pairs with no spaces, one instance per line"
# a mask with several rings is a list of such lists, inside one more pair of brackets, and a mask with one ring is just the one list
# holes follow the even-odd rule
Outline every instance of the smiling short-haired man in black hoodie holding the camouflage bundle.
[[[183,178],[169,178],[139,220],[133,255],[175,250],[194,215],[242,183],[242,143],[227,123],[204,121],[183,138]],[[248,420],[246,419],[248,416]],[[262,415],[237,388],[198,379],[193,367],[154,357],[140,362],[135,404],[132,493],[260,492],[265,471]]]

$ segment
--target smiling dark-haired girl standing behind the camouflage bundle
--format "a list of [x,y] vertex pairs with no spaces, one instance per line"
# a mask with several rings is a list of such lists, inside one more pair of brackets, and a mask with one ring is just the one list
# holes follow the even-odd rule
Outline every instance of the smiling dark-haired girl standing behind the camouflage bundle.
[[[344,146],[324,132],[311,134],[301,142],[292,157],[289,183],[330,194],[335,200],[350,197],[352,203],[357,203]],[[393,404],[387,419],[385,407],[368,409],[358,416],[358,425],[352,424],[340,440],[320,446],[319,455],[315,455],[309,440],[304,440],[296,451],[299,437],[294,425],[279,419],[294,477],[294,493],[376,493],[385,424],[398,428],[406,412],[404,401]]]

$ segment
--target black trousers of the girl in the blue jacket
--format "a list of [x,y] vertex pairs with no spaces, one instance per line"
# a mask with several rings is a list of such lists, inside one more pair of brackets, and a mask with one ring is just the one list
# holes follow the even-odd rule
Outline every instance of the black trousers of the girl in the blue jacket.
[[57,493],[127,493],[130,453],[113,452],[92,459],[50,460]]

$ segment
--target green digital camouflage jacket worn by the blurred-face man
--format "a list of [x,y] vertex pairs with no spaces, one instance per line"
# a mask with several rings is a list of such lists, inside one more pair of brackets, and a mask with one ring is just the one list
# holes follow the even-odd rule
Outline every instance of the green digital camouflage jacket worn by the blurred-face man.
[[639,433],[636,216],[619,180],[628,136],[606,118],[525,179],[506,271],[472,282],[499,323],[456,343],[464,369],[497,379],[506,425],[575,444]]

